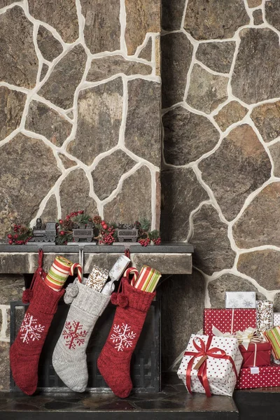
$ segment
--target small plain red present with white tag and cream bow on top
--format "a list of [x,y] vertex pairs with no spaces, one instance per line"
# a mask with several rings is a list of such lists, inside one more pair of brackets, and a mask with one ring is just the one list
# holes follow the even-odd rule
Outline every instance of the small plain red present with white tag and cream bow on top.
[[242,367],[267,366],[270,364],[272,351],[270,343],[250,343],[248,345],[248,350],[241,345],[239,346],[239,350],[243,356]]

